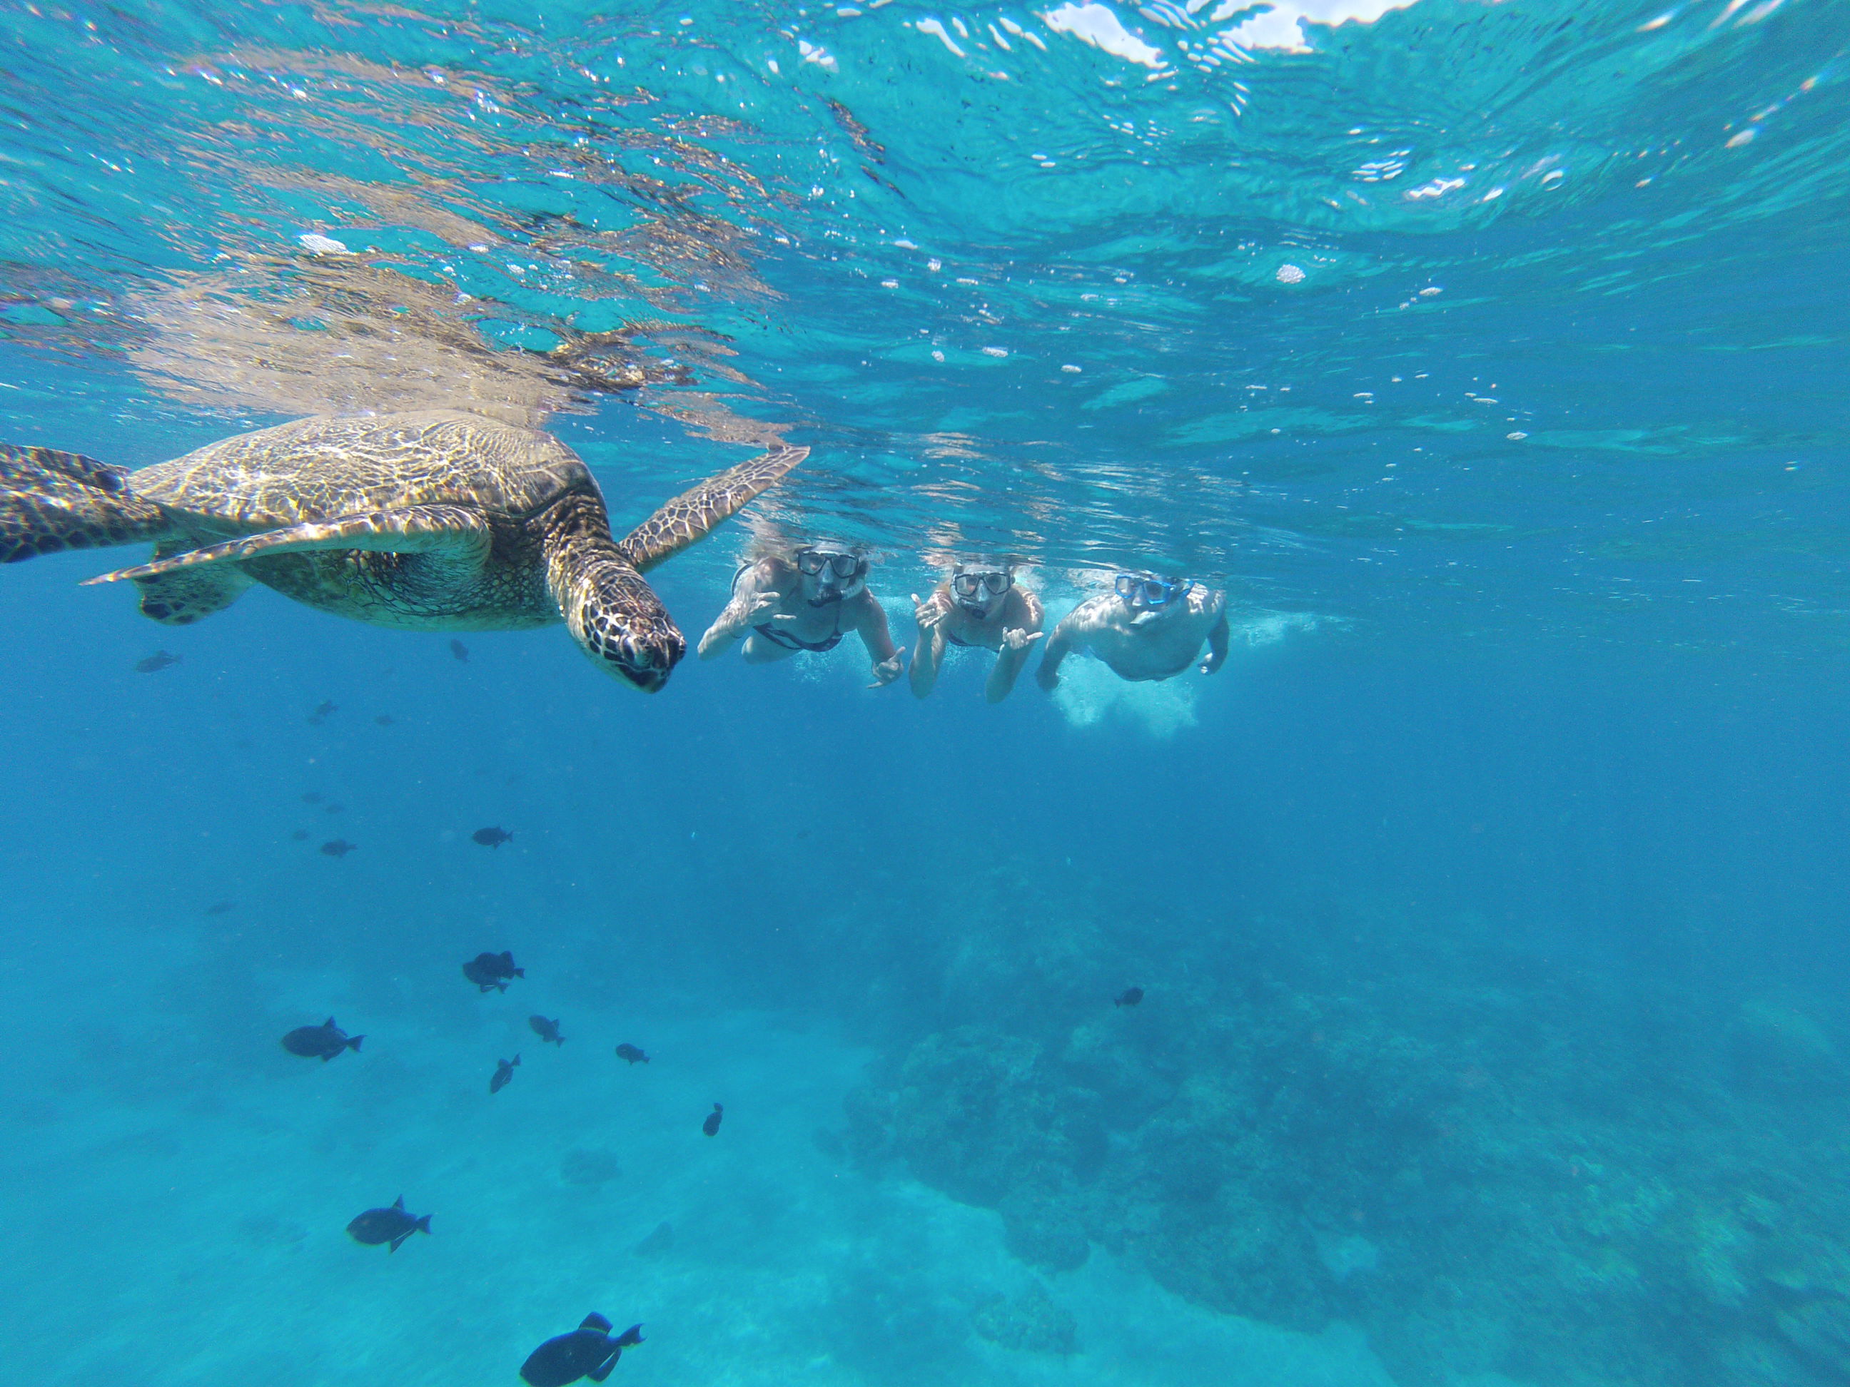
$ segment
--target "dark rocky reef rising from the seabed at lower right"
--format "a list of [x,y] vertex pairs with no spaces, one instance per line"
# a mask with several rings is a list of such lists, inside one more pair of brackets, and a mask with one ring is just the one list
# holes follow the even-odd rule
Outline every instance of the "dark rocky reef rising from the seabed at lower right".
[[1204,1306],[1352,1320],[1404,1387],[1850,1381],[1850,1067],[1815,1000],[1408,921],[1141,956],[1066,928],[1053,960],[964,928],[945,1025],[892,1047],[842,1145],[997,1209],[1019,1259],[1099,1245]]

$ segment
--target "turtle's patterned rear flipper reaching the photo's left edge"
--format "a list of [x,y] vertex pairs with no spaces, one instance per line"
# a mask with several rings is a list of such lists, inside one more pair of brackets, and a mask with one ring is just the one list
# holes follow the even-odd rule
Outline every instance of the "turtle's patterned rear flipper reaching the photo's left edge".
[[0,562],[157,540],[166,512],[128,473],[81,453],[0,444]]

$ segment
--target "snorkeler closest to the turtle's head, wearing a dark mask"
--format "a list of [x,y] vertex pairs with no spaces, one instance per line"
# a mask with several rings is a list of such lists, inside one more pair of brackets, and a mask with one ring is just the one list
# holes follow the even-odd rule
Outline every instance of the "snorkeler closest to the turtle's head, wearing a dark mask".
[[886,629],[886,612],[868,592],[868,555],[838,540],[805,544],[790,558],[766,555],[733,577],[733,601],[699,638],[699,658],[725,655],[746,638],[746,664],[788,660],[797,651],[832,651],[849,631],[860,634],[881,688],[905,664]]

